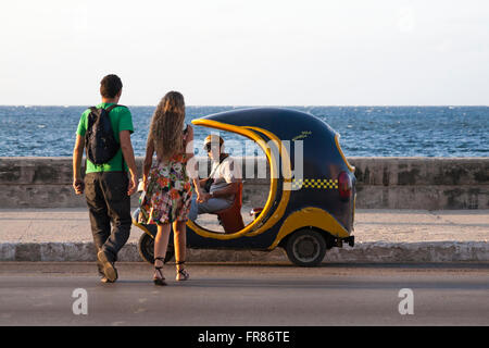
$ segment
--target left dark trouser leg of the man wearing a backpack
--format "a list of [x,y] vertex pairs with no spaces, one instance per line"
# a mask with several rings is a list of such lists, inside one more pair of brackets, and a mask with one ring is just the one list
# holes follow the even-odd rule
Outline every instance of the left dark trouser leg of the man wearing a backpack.
[[[98,252],[111,235],[111,219],[108,214],[104,195],[100,187],[100,174],[88,173],[85,176],[85,197],[90,216],[93,245]],[[99,273],[103,275],[103,268],[100,262],[97,262],[97,266],[99,268]]]

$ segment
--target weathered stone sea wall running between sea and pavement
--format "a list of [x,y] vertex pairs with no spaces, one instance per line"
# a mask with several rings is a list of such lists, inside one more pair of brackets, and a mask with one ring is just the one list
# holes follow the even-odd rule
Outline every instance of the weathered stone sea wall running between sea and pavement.
[[[203,159],[200,159],[203,162]],[[358,209],[489,209],[489,158],[348,158],[355,166]],[[142,158],[137,158],[139,172]],[[243,203],[263,206],[264,158],[243,158]],[[251,167],[253,165],[253,167]],[[248,170],[247,170],[248,167]],[[86,207],[72,188],[71,158],[0,158],[0,208]],[[137,206],[139,195],[131,197]]]

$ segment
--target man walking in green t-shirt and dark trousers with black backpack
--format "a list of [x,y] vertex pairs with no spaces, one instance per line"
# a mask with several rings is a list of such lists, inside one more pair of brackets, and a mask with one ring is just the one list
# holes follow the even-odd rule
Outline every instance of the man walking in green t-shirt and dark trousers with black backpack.
[[[130,134],[134,133],[133,117],[129,109],[117,105],[122,94],[122,82],[116,75],[106,75],[100,82],[102,102],[96,108],[86,110],[79,120],[76,132],[76,142],[73,150],[73,188],[77,195],[85,191],[90,215],[93,244],[97,247],[97,263],[103,283],[117,279],[117,252],[129,238],[130,195],[137,188],[137,170],[134,158]],[[101,110],[104,109],[105,111]],[[103,112],[102,112],[103,111]],[[103,113],[103,115],[102,115]],[[109,129],[112,128],[115,139],[115,154],[105,162],[96,164],[92,152],[96,125],[102,124],[101,117],[110,119]],[[99,119],[100,122],[96,121]],[[92,134],[86,138],[86,135]],[[112,135],[110,133],[110,135]],[[105,139],[99,140],[99,144]],[[87,165],[85,179],[82,179],[80,164],[84,148],[87,146]],[[89,156],[90,154],[90,156]],[[90,160],[90,158],[92,160]],[[127,175],[129,172],[129,176]],[[112,222],[112,231],[111,231]]]

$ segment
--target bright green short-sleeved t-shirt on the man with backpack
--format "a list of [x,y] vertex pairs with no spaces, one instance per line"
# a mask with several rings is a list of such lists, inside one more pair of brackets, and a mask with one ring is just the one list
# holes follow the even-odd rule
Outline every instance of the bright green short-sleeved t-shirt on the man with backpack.
[[[113,103],[102,102],[97,105],[97,108],[106,109]],[[85,133],[87,133],[88,125],[88,115],[90,114],[90,109],[87,109],[79,119],[78,129],[76,134],[85,137]],[[116,107],[109,113],[109,119],[111,119],[112,130],[114,132],[115,140],[121,144],[121,139],[118,137],[118,133],[121,130],[129,130],[131,134],[134,133],[133,127],[133,116],[130,114],[129,109],[124,107]],[[122,162],[123,162],[123,153],[122,150],[118,149],[117,153],[109,161],[109,163],[104,164],[93,164],[87,158],[87,167],[85,173],[100,173],[100,172],[120,172],[122,171]],[[127,163],[124,163],[125,171],[128,171]]]

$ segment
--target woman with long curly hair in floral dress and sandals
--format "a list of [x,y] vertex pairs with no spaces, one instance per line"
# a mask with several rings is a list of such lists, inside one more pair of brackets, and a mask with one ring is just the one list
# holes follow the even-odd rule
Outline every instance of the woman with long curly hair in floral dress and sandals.
[[[168,246],[171,224],[173,224],[176,279],[187,281],[186,222],[190,210],[192,185],[187,173],[187,161],[193,157],[193,150],[187,152],[187,145],[193,140],[193,129],[187,125],[184,129],[185,101],[177,91],[167,92],[154,111],[146,148],[142,182],[145,195],[140,198],[139,223],[156,224],[154,239],[154,276],[156,285],[166,285],[163,264]],[[153,153],[156,160],[153,163]],[[197,178],[193,184],[201,196]]]

